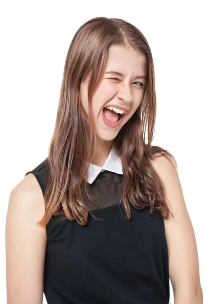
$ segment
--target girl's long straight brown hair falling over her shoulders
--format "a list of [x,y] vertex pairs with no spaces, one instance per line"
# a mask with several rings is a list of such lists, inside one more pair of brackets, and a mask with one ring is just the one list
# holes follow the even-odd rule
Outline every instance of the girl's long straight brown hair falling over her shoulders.
[[[83,201],[83,194],[93,199],[89,193],[87,173],[96,149],[91,102],[112,45],[131,46],[147,58],[147,80],[141,104],[113,141],[114,150],[122,162],[121,200],[126,218],[132,219],[131,205],[138,209],[150,206],[151,213],[154,209],[165,211],[165,218],[170,212],[163,185],[150,162],[156,156],[165,155],[177,168],[175,158],[167,150],[151,145],[156,94],[149,44],[141,31],[131,23],[118,18],[97,17],[79,27],[66,56],[56,124],[47,158],[50,172],[44,196],[46,212],[38,222],[40,225],[46,225],[52,215],[62,214],[69,220],[76,219],[81,225],[88,222],[90,210]],[[80,98],[80,84],[85,79],[90,80],[88,114]]]

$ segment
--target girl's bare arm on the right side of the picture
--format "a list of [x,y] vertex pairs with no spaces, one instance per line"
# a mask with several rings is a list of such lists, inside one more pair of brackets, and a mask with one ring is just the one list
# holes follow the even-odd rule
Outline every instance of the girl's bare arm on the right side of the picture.
[[164,219],[174,304],[203,304],[196,239],[177,169],[164,156],[151,163],[162,181],[168,208],[174,216],[169,213]]

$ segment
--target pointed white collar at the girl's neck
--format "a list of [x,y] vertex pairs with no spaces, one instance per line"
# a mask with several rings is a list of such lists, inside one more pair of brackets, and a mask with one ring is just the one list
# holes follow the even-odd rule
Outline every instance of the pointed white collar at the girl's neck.
[[90,164],[90,167],[88,169],[88,182],[90,184],[93,183],[99,173],[105,170],[118,174],[123,174],[121,160],[114,152],[113,148],[111,149],[109,156],[102,167]]

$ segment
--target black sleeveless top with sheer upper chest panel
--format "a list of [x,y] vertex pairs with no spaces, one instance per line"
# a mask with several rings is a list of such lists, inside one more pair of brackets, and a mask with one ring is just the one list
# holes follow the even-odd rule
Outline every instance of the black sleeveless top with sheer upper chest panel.
[[[35,175],[45,194],[47,159]],[[88,223],[53,216],[46,226],[44,293],[48,304],[168,304],[168,252],[163,217],[150,207],[132,207],[125,219],[119,204],[123,175],[100,172],[90,185],[97,194]],[[84,202],[91,208],[88,197]],[[122,213],[122,215],[121,215]]]

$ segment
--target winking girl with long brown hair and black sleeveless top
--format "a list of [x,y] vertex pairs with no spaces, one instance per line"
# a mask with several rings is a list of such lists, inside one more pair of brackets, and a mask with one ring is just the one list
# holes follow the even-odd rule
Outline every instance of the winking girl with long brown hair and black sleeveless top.
[[202,303],[177,163],[151,145],[155,116],[144,35],[117,18],[84,23],[48,157],[11,192],[9,304],[41,304],[43,292],[48,304],[168,304],[169,279],[176,304]]

